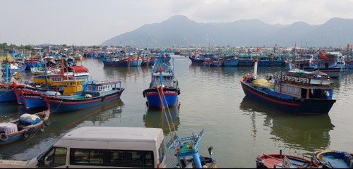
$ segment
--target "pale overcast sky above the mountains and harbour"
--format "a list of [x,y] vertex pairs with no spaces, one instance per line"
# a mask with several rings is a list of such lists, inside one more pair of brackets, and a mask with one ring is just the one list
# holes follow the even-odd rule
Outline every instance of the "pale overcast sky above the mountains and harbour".
[[353,0],[0,0],[0,43],[100,45],[174,15],[196,23],[321,25],[353,18],[352,6]]

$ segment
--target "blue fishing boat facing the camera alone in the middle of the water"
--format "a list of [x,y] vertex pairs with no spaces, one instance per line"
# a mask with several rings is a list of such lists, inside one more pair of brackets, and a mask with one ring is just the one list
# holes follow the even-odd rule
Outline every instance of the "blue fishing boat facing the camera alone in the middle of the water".
[[176,106],[180,89],[174,77],[174,68],[169,63],[158,62],[152,66],[151,78],[150,87],[143,91],[143,97],[147,98],[147,106],[161,109]]

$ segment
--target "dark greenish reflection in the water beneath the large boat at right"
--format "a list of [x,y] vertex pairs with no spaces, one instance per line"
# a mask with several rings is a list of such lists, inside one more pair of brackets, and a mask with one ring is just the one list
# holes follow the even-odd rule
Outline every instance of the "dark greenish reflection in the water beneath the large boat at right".
[[263,126],[270,127],[275,142],[284,142],[285,147],[304,149],[309,152],[322,151],[330,146],[329,132],[335,127],[328,114],[292,115],[269,106],[258,104],[247,97],[240,103],[240,109],[249,113],[253,134],[256,137],[256,120],[263,118]]

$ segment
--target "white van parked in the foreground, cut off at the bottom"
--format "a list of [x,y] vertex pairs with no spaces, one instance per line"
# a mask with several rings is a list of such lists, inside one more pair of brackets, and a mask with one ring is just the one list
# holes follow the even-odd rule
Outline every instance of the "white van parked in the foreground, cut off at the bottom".
[[27,168],[167,168],[160,128],[80,127]]

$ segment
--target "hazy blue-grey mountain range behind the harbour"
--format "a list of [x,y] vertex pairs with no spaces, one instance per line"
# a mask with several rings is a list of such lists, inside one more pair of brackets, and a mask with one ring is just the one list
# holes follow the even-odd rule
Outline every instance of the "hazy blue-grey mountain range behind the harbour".
[[270,25],[261,20],[196,23],[174,15],[161,23],[146,24],[112,37],[102,46],[347,46],[353,41],[353,19],[331,18],[322,25],[304,22]]

